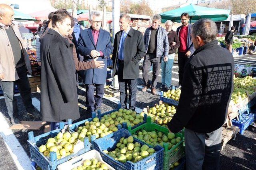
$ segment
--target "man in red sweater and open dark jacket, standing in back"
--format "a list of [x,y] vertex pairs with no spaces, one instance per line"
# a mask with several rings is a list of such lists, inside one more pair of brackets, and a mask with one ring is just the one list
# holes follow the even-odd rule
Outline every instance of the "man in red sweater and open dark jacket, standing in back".
[[194,45],[191,40],[191,28],[189,24],[190,16],[188,13],[183,13],[180,16],[182,25],[177,28],[177,34],[180,39],[180,47],[178,48],[178,66],[179,66],[179,86],[182,86],[182,79],[184,75],[185,64],[187,63],[190,56],[194,53]]

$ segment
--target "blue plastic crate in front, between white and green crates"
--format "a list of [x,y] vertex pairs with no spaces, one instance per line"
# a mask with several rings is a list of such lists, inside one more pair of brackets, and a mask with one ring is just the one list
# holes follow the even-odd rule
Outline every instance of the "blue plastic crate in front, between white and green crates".
[[[163,153],[164,149],[160,146],[154,147],[155,153],[140,160],[137,163],[133,163],[131,161],[127,161],[124,164],[115,160],[108,154],[104,153],[103,150],[112,151],[116,149],[116,144],[119,142],[122,137],[129,137],[131,134],[126,129],[120,129],[110,135],[106,135],[103,138],[95,140],[95,149],[100,152],[102,159],[105,162],[108,162],[110,166],[115,168],[116,170],[161,170],[163,166]],[[138,142],[141,145],[146,143],[141,142],[134,138],[134,143]],[[148,144],[146,144],[148,145]],[[148,145],[152,148],[150,145]]]

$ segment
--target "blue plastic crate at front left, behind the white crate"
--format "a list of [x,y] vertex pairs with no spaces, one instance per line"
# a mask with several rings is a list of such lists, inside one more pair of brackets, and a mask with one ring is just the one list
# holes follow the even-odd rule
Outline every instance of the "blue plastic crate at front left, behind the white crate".
[[[92,117],[96,117],[96,113],[94,112]],[[71,124],[72,120],[68,120],[68,124],[72,125],[70,127],[71,130],[75,130],[78,126],[84,125],[84,122],[86,121],[92,121],[93,118],[85,119],[83,121],[79,121],[77,123]],[[81,154],[84,154],[85,152],[88,152],[91,149],[91,144],[89,142],[88,138],[84,139],[84,149],[79,150],[76,153],[72,153],[62,159],[57,160],[56,153],[50,152],[50,159],[48,159],[46,156],[44,156],[43,153],[39,152],[39,148],[41,145],[46,144],[46,141],[50,137],[55,137],[64,127],[64,122],[60,122],[60,129],[56,129],[54,131],[50,131],[48,133],[44,133],[42,135],[39,135],[37,137],[34,137],[33,131],[28,133],[28,145],[30,147],[30,156],[31,160],[38,164],[42,169],[44,170],[56,170],[57,166],[59,164],[62,164],[70,159],[72,159],[75,156],[79,156]]]

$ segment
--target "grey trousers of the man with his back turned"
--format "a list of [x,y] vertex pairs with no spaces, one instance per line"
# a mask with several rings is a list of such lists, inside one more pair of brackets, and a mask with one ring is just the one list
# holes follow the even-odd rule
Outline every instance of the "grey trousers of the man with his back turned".
[[222,127],[211,133],[197,133],[185,128],[184,137],[187,170],[220,169]]

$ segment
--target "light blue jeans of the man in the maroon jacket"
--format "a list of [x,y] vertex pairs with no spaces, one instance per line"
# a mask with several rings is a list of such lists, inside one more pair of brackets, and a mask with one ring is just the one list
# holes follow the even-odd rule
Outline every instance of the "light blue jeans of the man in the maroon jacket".
[[170,54],[168,56],[168,61],[164,62],[164,57],[162,57],[161,69],[162,69],[162,85],[170,87],[172,83],[172,64],[174,61],[175,54]]

